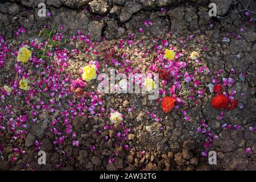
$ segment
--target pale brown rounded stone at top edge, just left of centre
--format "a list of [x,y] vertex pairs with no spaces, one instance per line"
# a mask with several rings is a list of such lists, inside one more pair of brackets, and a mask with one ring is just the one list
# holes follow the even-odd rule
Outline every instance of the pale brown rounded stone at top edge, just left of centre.
[[89,7],[93,13],[105,15],[109,9],[109,3],[103,0],[94,0],[89,2]]

